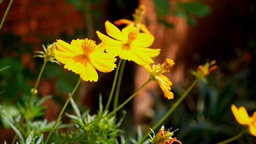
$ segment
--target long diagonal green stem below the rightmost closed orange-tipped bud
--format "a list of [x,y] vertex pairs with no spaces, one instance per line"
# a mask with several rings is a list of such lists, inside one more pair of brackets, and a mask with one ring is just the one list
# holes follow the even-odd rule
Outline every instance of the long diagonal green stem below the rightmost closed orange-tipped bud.
[[[156,130],[156,128],[158,128],[161,124],[163,124],[164,120],[166,120],[166,118],[168,118],[168,116],[170,116],[170,114],[173,112],[173,110],[180,104],[180,102],[182,102],[182,100],[188,95],[188,93],[190,92],[190,90],[192,90],[192,88],[196,85],[196,83],[201,80],[200,78],[196,78],[192,84],[190,84],[190,86],[188,87],[188,89],[182,94],[182,96],[180,96],[180,98],[172,105],[172,107],[168,110],[168,112],[166,112],[166,114],[161,118],[161,120],[159,120],[153,127],[152,130]],[[149,131],[149,134],[151,134],[152,131]],[[143,136],[143,138],[140,140],[139,143],[142,143],[144,140],[146,140],[146,138],[148,137],[148,134],[145,134]]]

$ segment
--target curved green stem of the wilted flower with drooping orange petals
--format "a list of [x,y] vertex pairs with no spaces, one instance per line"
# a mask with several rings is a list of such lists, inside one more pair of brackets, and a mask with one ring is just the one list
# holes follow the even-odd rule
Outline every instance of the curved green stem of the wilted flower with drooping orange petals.
[[132,98],[134,98],[134,96],[136,96],[136,94],[138,94],[138,92],[144,88],[144,86],[146,86],[146,84],[148,84],[152,79],[149,79],[145,84],[143,84],[138,90],[136,90],[136,92],[134,92],[134,94],[132,94],[125,102],[123,102],[120,106],[118,106],[116,109],[114,109],[112,112],[110,112],[109,114],[107,114],[106,116],[99,118],[98,120],[94,120],[93,122],[90,122],[80,128],[78,128],[76,131],[74,131],[74,133],[80,131],[82,128],[84,128],[85,126],[88,126],[89,124],[92,124],[94,122],[98,122],[99,120],[106,118],[108,116],[110,116],[111,114],[114,114],[115,112],[117,112],[118,110],[120,110],[124,105],[126,105]]

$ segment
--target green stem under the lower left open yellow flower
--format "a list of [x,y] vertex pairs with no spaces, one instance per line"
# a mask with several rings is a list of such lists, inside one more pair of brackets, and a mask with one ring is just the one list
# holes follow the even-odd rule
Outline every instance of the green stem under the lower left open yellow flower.
[[56,128],[58,122],[60,121],[61,116],[62,116],[62,114],[63,114],[63,112],[64,112],[66,106],[68,105],[68,102],[69,102],[70,99],[72,98],[72,96],[73,96],[74,92],[76,91],[76,89],[78,88],[80,82],[81,82],[81,78],[79,78],[79,80],[78,80],[78,82],[77,82],[75,88],[72,90],[71,94],[68,96],[68,99],[66,100],[64,106],[62,107],[62,110],[60,111],[60,114],[59,114],[59,116],[58,116],[58,118],[57,118],[55,124],[52,126],[52,129],[51,129],[51,131],[49,132],[49,134],[48,134],[48,136],[47,136],[47,138],[46,138],[45,144],[47,144],[47,142],[48,142],[48,140],[49,140],[49,138],[50,138],[52,132],[54,131],[54,129]]

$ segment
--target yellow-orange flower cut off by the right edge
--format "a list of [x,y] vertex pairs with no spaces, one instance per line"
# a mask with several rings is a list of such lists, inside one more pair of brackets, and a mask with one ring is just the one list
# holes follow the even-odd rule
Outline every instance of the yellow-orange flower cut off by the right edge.
[[239,124],[249,126],[249,132],[253,136],[256,136],[256,112],[252,114],[252,117],[249,117],[246,109],[243,106],[236,108],[234,104],[231,105],[231,110],[236,121]]

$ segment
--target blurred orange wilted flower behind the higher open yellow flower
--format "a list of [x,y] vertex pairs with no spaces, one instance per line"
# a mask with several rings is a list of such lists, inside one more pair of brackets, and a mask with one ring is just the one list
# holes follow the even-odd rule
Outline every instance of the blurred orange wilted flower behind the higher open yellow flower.
[[120,19],[114,22],[115,25],[119,26],[121,24],[126,24],[126,26],[136,26],[139,30],[145,33],[150,33],[148,31],[148,28],[141,23],[141,20],[143,19],[143,14],[145,14],[145,6],[143,4],[139,5],[138,8],[135,9],[135,14],[132,14],[134,20],[126,20],[126,19]]

